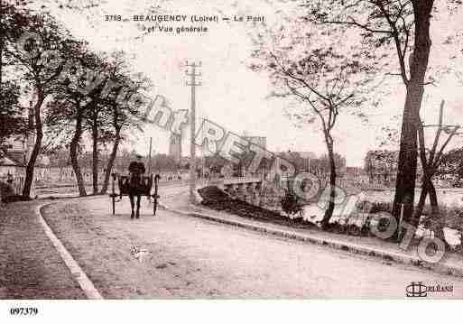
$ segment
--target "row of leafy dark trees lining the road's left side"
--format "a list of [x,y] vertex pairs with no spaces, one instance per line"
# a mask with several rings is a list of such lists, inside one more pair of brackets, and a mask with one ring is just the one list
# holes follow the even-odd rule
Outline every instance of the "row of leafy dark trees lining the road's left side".
[[[24,85],[14,95],[2,87],[2,99],[13,96],[9,101],[17,102],[22,96],[29,98],[27,131],[35,138],[23,196],[30,195],[35,163],[47,138],[68,148],[79,194],[87,195],[79,165],[85,134],[92,146],[93,193],[106,192],[125,134],[131,129],[141,130],[144,123],[142,112],[137,105],[127,105],[127,99],[148,90],[150,80],[141,73],[132,73],[123,52],[108,55],[92,51],[87,42],[75,39],[50,14],[36,14],[22,0],[3,3],[2,13],[3,75],[12,84]],[[27,32],[38,34],[40,42],[33,37],[24,39]],[[22,43],[24,40],[27,42]],[[124,97],[117,97],[120,94]],[[2,103],[2,111],[11,107]],[[111,153],[103,187],[98,191],[99,148],[108,144]]]

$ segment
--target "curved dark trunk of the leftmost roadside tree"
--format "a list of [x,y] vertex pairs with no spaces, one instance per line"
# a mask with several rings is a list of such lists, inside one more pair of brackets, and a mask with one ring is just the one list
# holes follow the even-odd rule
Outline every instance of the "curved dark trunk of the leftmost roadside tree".
[[37,102],[33,106],[33,114],[34,114],[34,122],[35,122],[35,143],[33,144],[33,149],[31,153],[31,157],[27,162],[26,166],[26,174],[24,179],[24,187],[23,187],[23,197],[30,198],[31,196],[31,189],[32,189],[32,181],[33,181],[33,171],[35,169],[35,162],[37,162],[37,157],[39,156],[41,146],[42,146],[42,138],[43,138],[43,130],[42,130],[42,118],[41,118],[41,107],[45,97],[42,94],[42,91],[39,90],[37,93]]

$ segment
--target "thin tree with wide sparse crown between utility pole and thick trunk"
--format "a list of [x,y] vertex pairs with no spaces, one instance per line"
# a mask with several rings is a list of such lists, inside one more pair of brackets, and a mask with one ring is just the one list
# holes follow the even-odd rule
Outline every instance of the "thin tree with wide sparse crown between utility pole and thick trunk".
[[255,63],[252,68],[270,73],[276,88],[274,97],[297,100],[300,109],[288,115],[299,125],[319,122],[329,159],[330,199],[322,220],[322,227],[328,227],[335,208],[338,170],[333,130],[342,111],[357,114],[357,107],[366,101],[364,91],[371,79],[357,76],[360,70],[365,75],[373,70],[357,59],[348,58],[347,44],[339,50],[326,35],[284,28],[266,34],[270,41],[257,40],[258,50],[254,54],[257,61],[264,59],[264,63]]

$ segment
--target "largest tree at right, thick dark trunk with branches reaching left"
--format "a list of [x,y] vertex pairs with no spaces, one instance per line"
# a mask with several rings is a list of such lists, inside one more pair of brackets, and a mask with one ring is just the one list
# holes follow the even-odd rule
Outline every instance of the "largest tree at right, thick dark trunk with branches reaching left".
[[[458,5],[459,1],[448,1]],[[342,26],[360,31],[360,44],[369,49],[369,57],[381,61],[394,52],[399,73],[406,88],[399,162],[394,196],[394,217],[404,205],[404,220],[413,212],[417,171],[417,131],[421,101],[431,51],[433,0],[326,0],[307,2],[307,20],[321,25]],[[378,51],[383,49],[384,51]],[[378,53],[378,54],[376,54]],[[357,53],[353,53],[356,55]],[[409,56],[409,57],[408,57]]]

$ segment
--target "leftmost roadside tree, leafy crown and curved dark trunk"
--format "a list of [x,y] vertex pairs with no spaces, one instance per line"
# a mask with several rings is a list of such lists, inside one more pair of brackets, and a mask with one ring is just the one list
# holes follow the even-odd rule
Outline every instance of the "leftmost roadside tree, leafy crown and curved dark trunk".
[[[69,32],[60,27],[49,14],[37,16],[27,10],[19,11],[14,6],[6,9],[10,28],[4,35],[5,56],[13,62],[15,72],[22,74],[22,79],[32,88],[35,143],[27,162],[23,187],[23,196],[29,197],[35,162],[42,146],[42,107],[47,97],[57,90],[62,67],[56,53],[68,45],[70,38]],[[22,37],[26,32],[38,34],[41,42],[33,37],[24,40]]]

